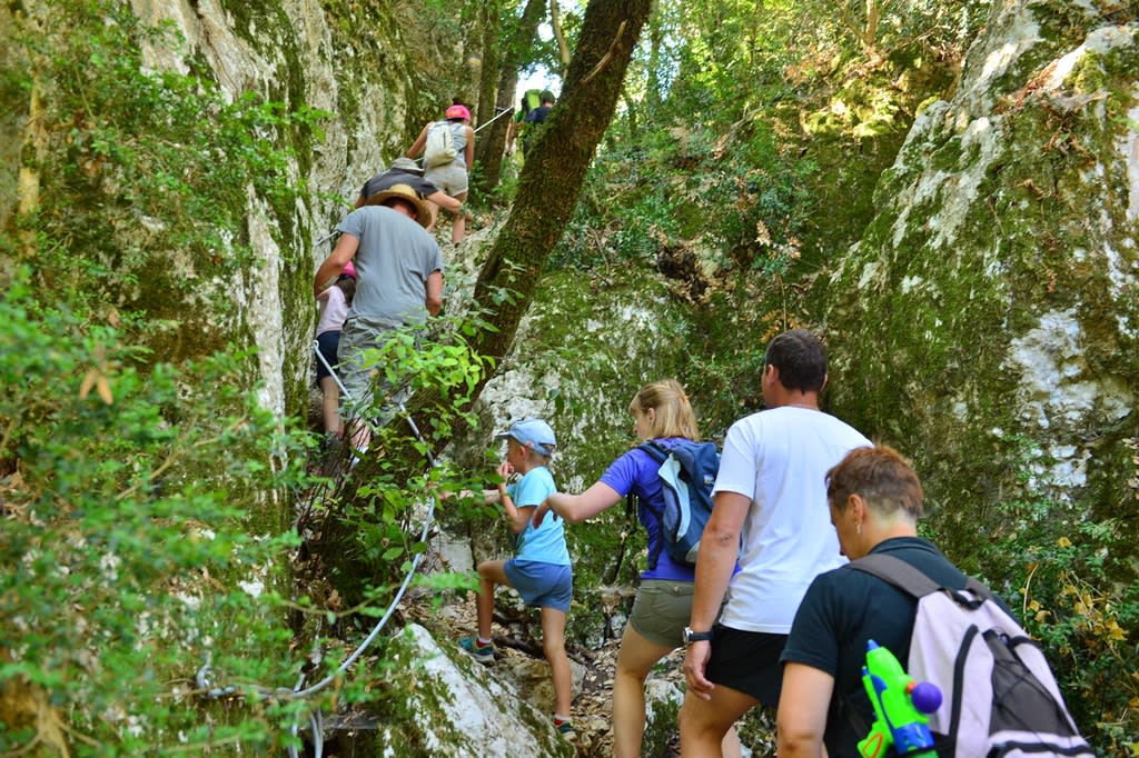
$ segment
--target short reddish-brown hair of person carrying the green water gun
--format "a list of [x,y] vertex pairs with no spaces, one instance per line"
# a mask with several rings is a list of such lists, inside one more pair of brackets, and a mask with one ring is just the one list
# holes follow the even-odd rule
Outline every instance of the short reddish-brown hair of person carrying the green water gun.
[[847,500],[854,494],[883,516],[901,509],[919,519],[924,512],[925,493],[917,472],[888,445],[855,447],[827,471],[827,501],[835,510],[845,511]]

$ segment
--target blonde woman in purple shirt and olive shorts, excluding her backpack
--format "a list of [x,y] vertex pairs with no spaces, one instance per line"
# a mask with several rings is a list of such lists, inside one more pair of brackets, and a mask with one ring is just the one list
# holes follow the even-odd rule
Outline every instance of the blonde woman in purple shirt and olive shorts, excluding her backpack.
[[[697,444],[699,432],[693,406],[673,379],[641,388],[629,404],[629,412],[633,415],[633,434],[641,442],[655,443],[665,451]],[[658,660],[681,645],[693,605],[695,567],[662,549],[664,537],[657,514],[664,509],[664,485],[659,469],[661,463],[638,446],[614,461],[600,480],[582,494],[550,495],[534,513],[535,526],[550,511],[574,524],[616,505],[626,495],[638,500],[637,517],[648,535],[649,568],[640,575],[617,653],[613,681],[613,749],[617,758],[640,756],[645,679]],[[723,755],[740,755],[735,730],[724,736]]]

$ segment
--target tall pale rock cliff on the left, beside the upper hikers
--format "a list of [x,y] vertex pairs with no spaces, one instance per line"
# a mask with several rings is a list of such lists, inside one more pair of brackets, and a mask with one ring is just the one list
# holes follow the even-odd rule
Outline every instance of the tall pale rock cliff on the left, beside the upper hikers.
[[[95,244],[76,237],[66,246],[68,259],[98,259],[117,274],[104,305],[166,324],[141,336],[154,360],[177,363],[232,346],[254,348],[249,384],[260,387],[262,403],[278,413],[301,412],[316,313],[310,278],[328,250],[317,240],[351,208],[363,181],[401,154],[421,123],[466,85],[460,80],[469,72],[456,65],[462,60],[459,28],[433,14],[415,2],[308,0],[6,8],[0,33],[13,43],[6,43],[0,63],[31,72],[31,82],[17,86],[24,81],[17,75],[3,80],[8,113],[0,130],[10,160],[0,173],[0,223],[17,207],[27,212],[41,203],[49,216],[71,216],[64,228],[81,228]],[[116,50],[124,55],[112,59]],[[77,85],[66,73],[67,57],[89,59]],[[115,67],[117,74],[108,73]],[[114,91],[116,75],[133,96]],[[174,79],[164,80],[167,75]],[[194,81],[204,85],[179,89]],[[76,88],[90,96],[77,96],[79,109],[68,101]],[[220,106],[202,106],[214,97]],[[187,102],[200,106],[197,113],[177,110]],[[205,147],[188,139],[192,123],[177,121],[190,113],[221,121],[226,105],[240,102],[273,104],[280,118],[238,126],[231,132],[235,143]],[[164,108],[174,114],[172,123],[151,131],[153,121],[146,120],[161,121]],[[148,138],[151,143],[145,145]],[[233,153],[248,147],[241,140],[265,140],[287,153],[284,168],[272,170],[284,172],[274,181],[290,186],[292,197],[231,182],[224,201],[206,211],[237,228],[222,229],[212,249],[195,249],[177,233],[178,214],[190,213],[189,223],[199,228],[212,219],[178,207],[183,198],[164,197],[161,182],[142,190],[145,182],[132,171],[150,180],[170,171],[171,186],[202,181],[200,164],[175,168],[175,153],[163,156],[165,163],[155,154],[208,150],[211,157],[202,157],[207,164],[246,166]],[[48,265],[40,257],[36,263]],[[10,263],[5,278],[13,274]],[[57,281],[47,273],[48,286],[58,286],[60,272],[55,273]]]

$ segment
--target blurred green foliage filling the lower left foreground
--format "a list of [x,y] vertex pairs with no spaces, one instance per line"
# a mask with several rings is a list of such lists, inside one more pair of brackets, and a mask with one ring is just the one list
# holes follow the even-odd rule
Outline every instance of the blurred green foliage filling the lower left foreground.
[[273,598],[297,542],[259,501],[305,481],[302,437],[232,357],[142,376],[115,329],[33,308],[25,271],[0,302],[0,750],[279,744],[295,708],[202,710],[194,675],[296,677]]

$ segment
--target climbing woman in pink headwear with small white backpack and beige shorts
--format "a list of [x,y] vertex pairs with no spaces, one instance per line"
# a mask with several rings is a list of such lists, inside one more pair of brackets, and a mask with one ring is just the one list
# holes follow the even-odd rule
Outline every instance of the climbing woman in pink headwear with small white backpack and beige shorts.
[[[467,106],[454,104],[446,109],[443,121],[424,126],[408,149],[409,158],[420,155],[424,156],[424,179],[456,200],[465,201],[467,172],[475,163],[475,130],[470,127]],[[458,245],[467,230],[467,215],[462,208],[452,213],[451,242]]]

